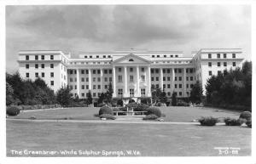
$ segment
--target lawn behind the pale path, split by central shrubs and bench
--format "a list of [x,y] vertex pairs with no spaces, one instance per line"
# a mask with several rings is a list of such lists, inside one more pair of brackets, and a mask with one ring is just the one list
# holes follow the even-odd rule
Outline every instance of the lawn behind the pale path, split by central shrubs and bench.
[[[191,122],[201,116],[213,117],[232,117],[238,118],[239,112],[230,110],[218,110],[205,107],[161,107],[161,111],[166,114],[165,121]],[[19,116],[12,118],[30,118],[35,116],[37,119],[65,119],[92,120],[98,119],[93,116],[98,113],[99,108],[67,108],[61,110],[38,110],[22,112]]]

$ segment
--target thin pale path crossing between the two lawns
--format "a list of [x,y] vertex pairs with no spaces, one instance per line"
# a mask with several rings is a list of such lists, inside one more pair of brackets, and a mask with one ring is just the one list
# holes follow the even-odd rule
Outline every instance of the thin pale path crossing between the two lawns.
[[[73,122],[73,123],[135,123],[135,124],[169,124],[169,125],[200,125],[199,122],[155,122],[155,121],[128,121],[128,120],[31,120],[31,119],[12,119],[7,118],[7,121],[13,122]],[[217,123],[216,125],[224,125]]]

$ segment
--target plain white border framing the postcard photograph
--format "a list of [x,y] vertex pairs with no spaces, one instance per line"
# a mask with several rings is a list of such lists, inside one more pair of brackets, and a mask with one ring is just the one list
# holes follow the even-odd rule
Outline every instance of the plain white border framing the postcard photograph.
[[[256,160],[253,159],[255,157],[255,126],[253,127],[253,151],[252,156],[246,156],[246,157],[108,157],[108,158],[102,158],[102,157],[38,157],[38,158],[26,158],[26,157],[6,157],[6,124],[5,124],[5,5],[61,5],[61,4],[249,4],[252,5],[252,60],[253,60],[253,84],[255,82],[255,71],[256,67],[254,65],[255,62],[255,52],[256,47],[253,45],[255,44],[255,36],[256,36],[256,25],[255,25],[255,18],[256,18],[256,3],[253,0],[215,0],[215,1],[206,1],[206,0],[180,0],[180,1],[166,1],[166,0],[158,0],[158,1],[113,1],[113,0],[99,0],[99,1],[82,1],[82,0],[76,0],[76,1],[61,1],[61,0],[44,0],[44,1],[33,1],[33,0],[26,0],[26,1],[1,1],[0,2],[0,52],[2,55],[1,65],[0,65],[0,73],[1,73],[1,83],[0,83],[0,90],[1,93],[1,99],[0,105],[1,105],[1,112],[0,112],[0,163],[148,163],[148,164],[155,164],[155,163],[239,163],[239,164],[246,164],[246,163],[256,163]],[[254,19],[254,21],[253,21]],[[238,38],[239,39],[239,38]],[[253,55],[254,54],[254,55]],[[3,92],[4,91],[4,92]],[[253,87],[253,99],[255,99],[255,88]],[[254,110],[254,103],[253,103],[253,110]],[[255,112],[255,111],[254,111]],[[253,113],[253,118],[254,118]],[[253,119],[253,125],[255,125],[255,119]],[[239,133],[239,132],[237,132]]]

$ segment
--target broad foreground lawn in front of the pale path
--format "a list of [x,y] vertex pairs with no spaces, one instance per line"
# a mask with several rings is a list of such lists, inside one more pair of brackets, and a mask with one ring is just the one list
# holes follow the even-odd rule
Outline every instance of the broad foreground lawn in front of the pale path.
[[240,148],[237,155],[226,156],[250,156],[251,128],[7,120],[7,156],[19,156],[11,150],[137,150],[138,156],[220,156],[215,147]]

